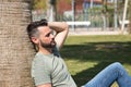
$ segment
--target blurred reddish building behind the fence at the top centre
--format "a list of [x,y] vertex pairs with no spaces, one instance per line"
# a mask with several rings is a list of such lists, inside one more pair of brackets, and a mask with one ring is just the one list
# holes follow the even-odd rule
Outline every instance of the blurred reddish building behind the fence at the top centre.
[[[93,2],[92,2],[93,1]],[[75,0],[75,11],[83,11],[83,4],[97,7],[102,5],[102,0]],[[63,14],[66,11],[72,11],[72,3],[66,0],[59,0],[57,4],[57,11],[59,14]]]

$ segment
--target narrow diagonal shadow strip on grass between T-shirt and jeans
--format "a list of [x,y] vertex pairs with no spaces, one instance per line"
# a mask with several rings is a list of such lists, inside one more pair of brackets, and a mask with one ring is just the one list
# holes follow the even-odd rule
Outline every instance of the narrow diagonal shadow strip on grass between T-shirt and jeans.
[[98,72],[104,70],[105,66],[107,66],[109,64],[110,64],[110,62],[100,62],[97,65],[95,65],[94,67],[82,71],[72,77],[74,78],[78,87],[81,87],[82,85],[85,85],[88,80],[91,80],[94,76],[96,76],[98,74]]

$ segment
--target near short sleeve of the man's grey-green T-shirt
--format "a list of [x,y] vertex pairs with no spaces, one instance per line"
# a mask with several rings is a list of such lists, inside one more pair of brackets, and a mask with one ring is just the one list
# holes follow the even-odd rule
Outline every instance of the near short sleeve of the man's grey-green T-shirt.
[[51,83],[48,65],[43,60],[35,60],[32,65],[32,76],[35,85]]

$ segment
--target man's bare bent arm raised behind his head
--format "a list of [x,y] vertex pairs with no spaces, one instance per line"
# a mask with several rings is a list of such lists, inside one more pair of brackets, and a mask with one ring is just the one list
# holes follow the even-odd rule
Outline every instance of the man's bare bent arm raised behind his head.
[[66,22],[48,22],[48,26],[56,32],[55,40],[60,49],[69,33],[69,26]]

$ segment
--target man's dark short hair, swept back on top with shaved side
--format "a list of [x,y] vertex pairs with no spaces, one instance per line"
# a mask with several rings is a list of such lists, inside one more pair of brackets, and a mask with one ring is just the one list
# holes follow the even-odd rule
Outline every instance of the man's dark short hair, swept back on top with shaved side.
[[33,36],[38,36],[38,27],[39,26],[47,26],[48,23],[47,23],[47,20],[40,20],[40,21],[36,21],[36,22],[32,22],[31,24],[28,24],[26,30],[27,30],[27,34],[28,34],[28,37],[29,39],[33,37]]

